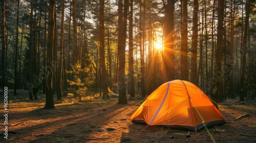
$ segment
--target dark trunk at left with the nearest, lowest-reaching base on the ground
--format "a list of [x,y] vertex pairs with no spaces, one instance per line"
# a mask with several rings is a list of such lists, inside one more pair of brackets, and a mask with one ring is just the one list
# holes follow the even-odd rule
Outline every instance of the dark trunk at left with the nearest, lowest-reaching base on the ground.
[[45,109],[54,108],[53,101],[53,44],[54,44],[54,11],[56,0],[49,0],[49,20],[48,20],[48,42],[47,42],[47,78],[46,78],[46,104]]

